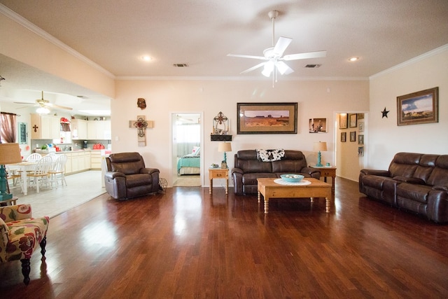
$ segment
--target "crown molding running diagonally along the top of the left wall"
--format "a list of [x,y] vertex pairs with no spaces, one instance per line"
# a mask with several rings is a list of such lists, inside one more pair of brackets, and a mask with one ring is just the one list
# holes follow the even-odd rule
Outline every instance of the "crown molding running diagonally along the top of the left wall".
[[41,36],[43,39],[49,41],[53,45],[61,48],[66,53],[69,53],[73,57],[76,57],[78,60],[81,60],[82,62],[85,62],[86,64],[90,65],[90,67],[93,67],[94,69],[97,69],[98,71],[101,71],[106,76],[109,76],[110,78],[115,78],[115,76],[108,70],[101,67],[99,64],[96,64],[95,62],[92,62],[92,60],[88,59],[84,55],[78,53],[76,50],[73,50],[73,48],[70,48],[65,43],[62,43],[62,41],[59,41],[59,39],[56,39],[54,36],[48,34],[48,32],[45,32],[45,30],[37,27],[33,23],[29,22],[29,20],[23,18],[18,13],[15,13],[14,11],[11,11],[8,7],[4,6],[3,4],[0,4],[0,13],[3,15],[6,15],[6,17],[10,18],[11,20],[17,22],[22,27],[25,27],[29,31],[33,32],[34,34],[37,34],[38,36]]

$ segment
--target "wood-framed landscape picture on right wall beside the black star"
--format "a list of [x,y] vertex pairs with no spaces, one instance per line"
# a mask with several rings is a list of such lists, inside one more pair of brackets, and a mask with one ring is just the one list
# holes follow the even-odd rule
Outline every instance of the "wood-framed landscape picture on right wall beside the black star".
[[439,88],[397,97],[397,125],[439,122]]

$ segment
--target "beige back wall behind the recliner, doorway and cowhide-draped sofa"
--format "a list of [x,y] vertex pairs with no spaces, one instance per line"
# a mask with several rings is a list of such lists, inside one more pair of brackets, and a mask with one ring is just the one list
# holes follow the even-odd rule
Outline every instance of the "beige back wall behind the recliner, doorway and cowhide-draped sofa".
[[[112,148],[114,152],[139,151],[151,167],[160,169],[161,176],[171,186],[171,130],[170,116],[176,112],[203,113],[204,186],[209,185],[207,168],[220,164],[223,154],[218,153],[218,142],[210,141],[212,119],[222,111],[230,118],[233,135],[232,153],[228,165],[233,166],[233,155],[241,149],[286,148],[303,151],[309,164],[316,163],[312,152],[316,141],[326,141],[328,151],[323,162],[335,162],[335,116],[337,111],[366,111],[368,109],[368,81],[280,81],[272,88],[269,81],[117,81],[116,99],[111,104]],[[137,107],[137,98],[146,99],[147,108]],[[297,102],[297,134],[239,134],[237,135],[238,102]],[[137,146],[137,132],[129,128],[129,120],[145,115],[155,120],[155,127],[147,131],[147,146]],[[328,133],[310,134],[309,118],[327,118]],[[117,141],[118,139],[118,141]],[[356,162],[358,156],[354,156]],[[349,163],[353,165],[353,163]],[[353,167],[352,167],[353,168]],[[359,172],[359,170],[358,170]],[[342,176],[356,180],[356,177]]]

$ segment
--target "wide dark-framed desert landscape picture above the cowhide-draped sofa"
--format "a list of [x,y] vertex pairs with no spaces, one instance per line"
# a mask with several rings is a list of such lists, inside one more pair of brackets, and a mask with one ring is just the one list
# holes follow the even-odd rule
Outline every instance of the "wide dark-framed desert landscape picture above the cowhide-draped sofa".
[[297,134],[297,102],[237,103],[237,134]]

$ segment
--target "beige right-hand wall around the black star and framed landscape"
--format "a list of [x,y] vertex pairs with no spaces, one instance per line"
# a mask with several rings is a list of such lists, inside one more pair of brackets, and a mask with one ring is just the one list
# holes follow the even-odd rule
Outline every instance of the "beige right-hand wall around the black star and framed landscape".
[[[397,97],[439,87],[439,122],[397,125]],[[448,153],[448,45],[372,76],[368,125],[369,168],[387,169],[400,151]],[[390,111],[381,118],[384,107]]]

